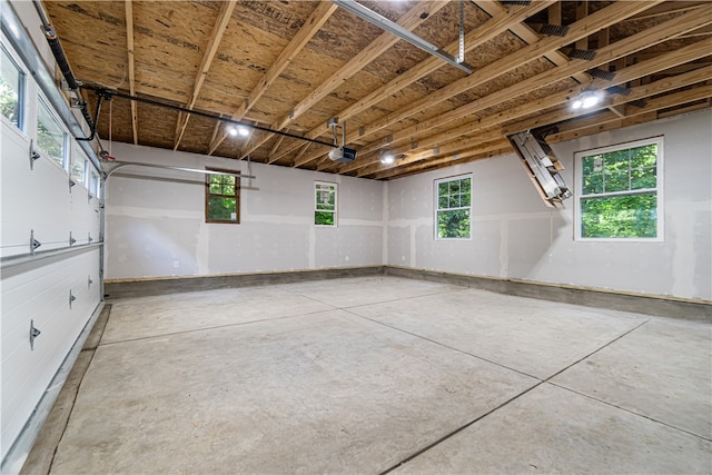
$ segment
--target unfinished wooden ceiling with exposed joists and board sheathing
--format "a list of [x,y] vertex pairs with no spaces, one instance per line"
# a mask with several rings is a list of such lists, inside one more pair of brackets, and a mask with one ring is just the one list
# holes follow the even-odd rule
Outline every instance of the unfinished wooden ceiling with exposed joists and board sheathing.
[[[459,1],[358,1],[390,21],[408,21],[414,34],[457,56]],[[72,70],[87,85],[128,93],[126,11],[132,10],[136,95],[177,106],[195,98],[195,109],[216,117],[240,113],[247,122],[286,126],[328,142],[326,121],[338,117],[358,157],[335,164],[325,158],[327,147],[257,131],[248,142],[231,137],[219,142],[225,127],[212,119],[190,116],[182,129],[178,112],[135,103],[136,141],[167,149],[214,150],[235,159],[249,154],[279,166],[394,179],[508,150],[504,135],[528,123],[560,125],[552,140],[561,140],[710,106],[710,79],[704,78],[712,55],[704,53],[708,43],[698,42],[712,41],[709,2],[590,0],[584,10],[570,1],[535,0],[528,7],[466,1],[465,61],[472,75],[327,1],[236,0],[224,31],[216,31],[221,1],[43,4]],[[418,18],[421,11],[426,18]],[[313,13],[323,14],[316,24]],[[565,38],[536,33],[550,18],[568,26]],[[299,34],[304,41],[294,49]],[[574,46],[595,49],[596,58],[568,59]],[[610,69],[617,78],[593,78],[586,72],[592,68]],[[264,86],[268,71],[275,71],[274,82]],[[644,98],[645,107],[613,95],[610,109],[571,116],[570,97],[586,87],[619,83]],[[93,113],[93,93],[82,93]],[[132,144],[130,101],[111,103],[111,139]],[[108,118],[105,101],[98,125],[102,141]],[[378,152],[386,146],[409,158],[382,166]]]

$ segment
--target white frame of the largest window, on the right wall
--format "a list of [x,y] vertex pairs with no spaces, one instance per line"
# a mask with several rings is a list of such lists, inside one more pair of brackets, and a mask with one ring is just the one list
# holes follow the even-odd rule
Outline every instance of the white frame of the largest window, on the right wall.
[[[586,194],[583,195],[583,161],[584,158],[593,155],[611,154],[615,151],[632,150],[637,147],[644,147],[649,145],[657,146],[657,154],[655,157],[655,187],[654,188],[641,188],[641,189],[627,189],[623,191],[610,191],[601,194]],[[630,174],[629,166],[629,174]],[[605,175],[604,175],[605,176]],[[629,178],[630,180],[630,178]],[[615,144],[606,147],[599,147],[587,150],[580,150],[574,152],[574,240],[582,243],[661,243],[664,240],[664,137],[651,137],[646,139],[631,140],[622,144]],[[591,199],[597,197],[611,198],[611,197],[629,197],[636,195],[655,194],[656,198],[656,235],[654,237],[585,237],[583,236],[583,215],[581,201],[583,199]]]

